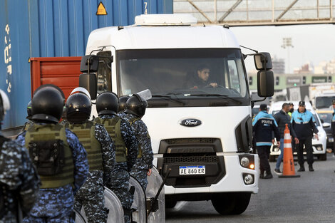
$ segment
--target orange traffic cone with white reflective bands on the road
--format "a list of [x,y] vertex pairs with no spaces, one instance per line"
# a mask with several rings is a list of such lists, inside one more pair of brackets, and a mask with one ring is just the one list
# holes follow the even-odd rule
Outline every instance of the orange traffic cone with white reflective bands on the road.
[[292,155],[291,135],[289,134],[289,127],[285,124],[284,130],[284,157],[283,157],[283,175],[279,177],[300,177],[295,175],[294,160]]

